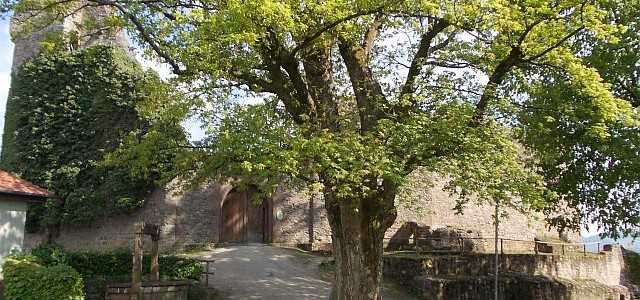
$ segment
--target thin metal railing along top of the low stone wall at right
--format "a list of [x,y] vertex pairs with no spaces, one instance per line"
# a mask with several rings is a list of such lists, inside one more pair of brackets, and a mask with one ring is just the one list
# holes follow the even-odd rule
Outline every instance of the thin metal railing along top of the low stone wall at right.
[[[410,237],[410,238],[385,238],[385,252],[417,252],[417,253],[495,253],[494,238],[480,237]],[[568,255],[582,253],[601,253],[606,251],[605,244],[593,243],[561,243],[546,241],[519,240],[510,238],[498,239],[498,252],[500,254],[557,254]],[[595,245],[590,247],[589,245]],[[594,248],[594,249],[591,249]]]

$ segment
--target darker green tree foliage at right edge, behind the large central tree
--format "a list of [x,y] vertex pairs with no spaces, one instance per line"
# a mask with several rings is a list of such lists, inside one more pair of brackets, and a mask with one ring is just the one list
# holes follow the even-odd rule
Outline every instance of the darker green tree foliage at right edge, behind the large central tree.
[[[640,198],[640,2],[603,3],[606,20],[626,27],[608,39],[583,34],[573,48],[579,68],[548,68],[528,87],[521,140],[549,190],[554,225],[596,224],[604,235],[638,234]],[[598,92],[599,91],[599,92]],[[558,208],[579,208],[572,214]]]

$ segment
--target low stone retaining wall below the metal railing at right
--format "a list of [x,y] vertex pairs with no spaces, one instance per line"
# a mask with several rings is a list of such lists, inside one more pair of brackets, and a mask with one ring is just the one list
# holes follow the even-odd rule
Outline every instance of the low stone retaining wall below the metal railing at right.
[[[422,299],[492,299],[494,259],[491,254],[388,256],[384,273]],[[597,256],[501,255],[498,292],[500,299],[630,299],[622,266],[619,246]]]

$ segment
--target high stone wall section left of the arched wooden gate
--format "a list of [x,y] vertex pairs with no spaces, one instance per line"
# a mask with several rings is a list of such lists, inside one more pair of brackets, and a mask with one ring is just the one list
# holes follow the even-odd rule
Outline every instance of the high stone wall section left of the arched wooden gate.
[[[176,193],[171,187],[158,188],[148,202],[132,214],[84,227],[63,226],[56,243],[70,250],[131,248],[135,222],[160,225],[159,248],[163,252],[217,243],[220,195],[228,189],[217,184],[186,193]],[[33,248],[42,240],[42,234],[27,233],[25,248]]]

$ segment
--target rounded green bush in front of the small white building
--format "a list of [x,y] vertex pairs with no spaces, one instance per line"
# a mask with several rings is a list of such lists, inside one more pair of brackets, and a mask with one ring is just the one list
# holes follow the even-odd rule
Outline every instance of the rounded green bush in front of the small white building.
[[41,266],[27,260],[3,264],[6,300],[80,300],[82,277],[66,265]]

